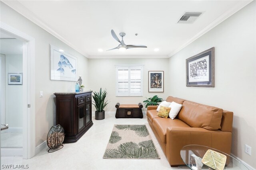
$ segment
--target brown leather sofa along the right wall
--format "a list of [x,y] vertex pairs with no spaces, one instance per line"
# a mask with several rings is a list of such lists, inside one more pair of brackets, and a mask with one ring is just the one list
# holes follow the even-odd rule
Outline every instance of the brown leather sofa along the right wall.
[[167,102],[182,104],[175,119],[157,116],[157,106],[148,106],[148,123],[171,166],[184,165],[180,150],[186,145],[204,145],[230,154],[233,112],[169,96]]

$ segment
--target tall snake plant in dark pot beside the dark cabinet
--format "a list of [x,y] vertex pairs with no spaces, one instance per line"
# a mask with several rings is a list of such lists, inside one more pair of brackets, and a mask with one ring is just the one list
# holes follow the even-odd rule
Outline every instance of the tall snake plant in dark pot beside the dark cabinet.
[[107,103],[108,101],[104,102],[106,96],[107,96],[106,89],[102,91],[100,88],[100,92],[93,92],[92,97],[94,99],[94,102],[92,102],[92,104],[96,108],[96,111],[95,111],[95,119],[96,120],[105,119],[104,107],[108,104]]

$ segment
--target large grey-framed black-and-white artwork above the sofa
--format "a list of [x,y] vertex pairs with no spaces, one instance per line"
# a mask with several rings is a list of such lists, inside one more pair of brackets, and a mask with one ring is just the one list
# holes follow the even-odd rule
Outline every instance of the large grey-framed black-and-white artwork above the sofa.
[[214,47],[186,59],[186,86],[214,87]]

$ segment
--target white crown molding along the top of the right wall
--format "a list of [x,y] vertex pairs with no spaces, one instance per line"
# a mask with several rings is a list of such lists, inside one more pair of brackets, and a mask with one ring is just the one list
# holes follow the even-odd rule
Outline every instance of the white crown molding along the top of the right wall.
[[239,10],[244,8],[246,5],[250,4],[252,1],[253,0],[242,0],[242,1],[240,1],[239,4],[237,4],[233,8],[230,8],[230,10],[226,11],[224,14],[222,14],[220,17],[218,17],[216,20],[214,20],[209,25],[207,25],[204,29],[202,29],[200,32],[198,32],[196,35],[194,35],[192,38],[188,39],[186,41],[186,43],[184,43],[178,49],[176,49],[172,53],[170,53],[168,55],[168,57],[172,57],[174,54],[178,53],[180,50],[182,50],[183,48],[188,46],[190,43],[192,43],[193,41],[195,41],[196,39],[198,39],[199,37],[201,37],[202,35],[204,35],[208,31],[210,31],[211,29],[213,29],[214,27],[216,27],[217,25],[222,23],[224,20],[226,20],[227,18],[229,18],[230,16],[232,16],[233,14],[235,14],[236,12],[238,12]]

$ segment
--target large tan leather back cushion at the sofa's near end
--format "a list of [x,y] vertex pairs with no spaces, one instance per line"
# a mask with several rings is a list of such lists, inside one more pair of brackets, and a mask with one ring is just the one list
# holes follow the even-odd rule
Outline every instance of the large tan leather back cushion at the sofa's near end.
[[191,127],[203,127],[208,130],[220,129],[223,109],[196,102],[184,101],[177,118]]

